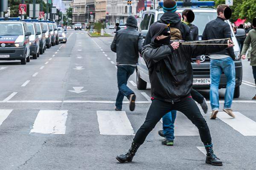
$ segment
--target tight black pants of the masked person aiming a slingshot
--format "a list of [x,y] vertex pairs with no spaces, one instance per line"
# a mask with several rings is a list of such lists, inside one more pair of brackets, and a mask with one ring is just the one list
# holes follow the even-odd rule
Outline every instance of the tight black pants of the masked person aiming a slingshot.
[[[207,122],[201,115],[198,106],[192,98],[186,98],[181,102],[172,103],[162,102],[154,99],[148,110],[145,122],[134,136],[134,142],[143,144],[148,133],[157,125],[157,122],[169,111],[176,110],[182,112],[198,128],[201,141],[211,144],[211,134]],[[188,129],[189,130],[189,129]]]

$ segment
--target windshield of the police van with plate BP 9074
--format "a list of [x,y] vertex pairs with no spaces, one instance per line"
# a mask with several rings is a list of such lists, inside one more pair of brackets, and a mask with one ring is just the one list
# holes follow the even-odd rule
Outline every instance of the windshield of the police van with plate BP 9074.
[[[198,35],[202,36],[204,32],[204,28],[207,23],[209,23],[211,20],[215,20],[217,17],[217,13],[215,12],[194,12],[195,13],[195,20],[192,24],[196,25],[198,27]],[[160,17],[162,17],[162,14],[158,14],[157,20],[160,20]],[[181,12],[180,12],[180,15]]]

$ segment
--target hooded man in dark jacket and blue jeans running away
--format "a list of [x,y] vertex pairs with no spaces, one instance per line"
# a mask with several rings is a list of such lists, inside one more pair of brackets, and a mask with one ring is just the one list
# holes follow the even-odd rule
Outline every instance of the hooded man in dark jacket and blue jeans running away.
[[117,31],[111,44],[111,50],[116,53],[117,83],[119,89],[116,97],[116,111],[122,111],[124,96],[130,101],[130,110],[134,111],[136,96],[127,87],[127,81],[137,67],[139,52],[141,53],[142,49],[143,37],[137,31],[136,18],[134,16],[128,16],[126,23],[127,28]]

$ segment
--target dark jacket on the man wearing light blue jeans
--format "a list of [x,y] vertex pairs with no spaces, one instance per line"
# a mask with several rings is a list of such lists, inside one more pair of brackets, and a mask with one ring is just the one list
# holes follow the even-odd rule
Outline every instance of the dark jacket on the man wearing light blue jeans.
[[[230,26],[224,21],[224,19],[222,19],[221,17],[217,17],[215,20],[212,20],[206,24],[204,28],[204,33],[202,35],[202,40],[223,38],[231,38]],[[233,60],[235,60],[236,58],[233,47],[212,54],[228,55],[232,57]]]

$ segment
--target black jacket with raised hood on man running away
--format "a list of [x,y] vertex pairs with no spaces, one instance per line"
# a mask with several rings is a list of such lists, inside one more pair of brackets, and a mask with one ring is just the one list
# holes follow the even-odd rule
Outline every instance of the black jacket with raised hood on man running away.
[[116,62],[119,64],[137,64],[139,52],[142,50],[143,36],[137,31],[137,20],[129,16],[126,21],[128,26],[116,32],[111,44],[111,50],[116,52]]

